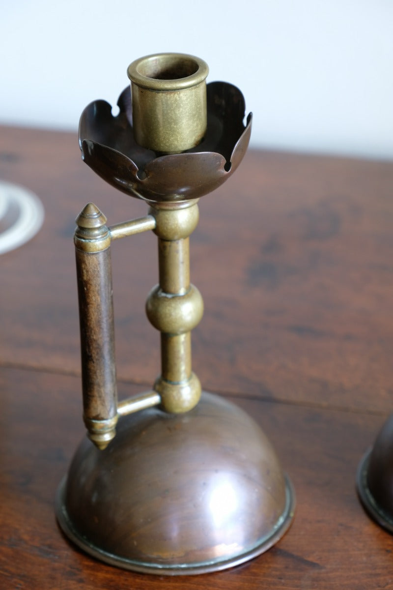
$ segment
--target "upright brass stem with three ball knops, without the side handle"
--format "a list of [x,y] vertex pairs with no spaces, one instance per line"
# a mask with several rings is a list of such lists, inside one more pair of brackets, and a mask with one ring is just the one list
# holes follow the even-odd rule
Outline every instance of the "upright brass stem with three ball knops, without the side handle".
[[197,225],[197,202],[187,207],[150,208],[156,219],[160,284],[149,294],[146,312],[161,332],[161,375],[154,390],[162,406],[173,413],[186,412],[199,401],[201,386],[191,371],[191,330],[203,314],[199,291],[190,284],[189,235]]

